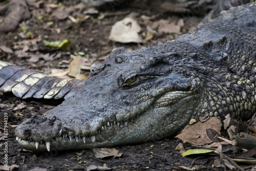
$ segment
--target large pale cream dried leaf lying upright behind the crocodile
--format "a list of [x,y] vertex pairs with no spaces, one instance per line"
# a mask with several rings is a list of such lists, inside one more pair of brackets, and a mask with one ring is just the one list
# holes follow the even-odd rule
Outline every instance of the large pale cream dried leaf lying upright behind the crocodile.
[[112,27],[109,39],[121,43],[142,42],[142,38],[138,34],[141,27],[133,18],[126,17],[123,20],[116,22]]

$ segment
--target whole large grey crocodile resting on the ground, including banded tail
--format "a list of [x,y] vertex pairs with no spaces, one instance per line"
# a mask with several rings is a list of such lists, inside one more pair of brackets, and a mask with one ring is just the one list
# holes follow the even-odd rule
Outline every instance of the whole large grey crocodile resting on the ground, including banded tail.
[[[34,152],[111,147],[174,136],[190,119],[205,115],[249,119],[256,111],[256,4],[206,20],[164,44],[114,50],[78,88],[65,89],[70,80],[51,84],[47,90],[57,90],[40,97],[66,100],[18,125],[19,145]],[[0,76],[11,67],[1,65]],[[15,86],[22,84],[28,90],[19,97],[33,97],[47,85],[36,87],[46,76],[34,73],[14,77],[21,71],[2,74],[13,82],[6,91],[17,93]]]

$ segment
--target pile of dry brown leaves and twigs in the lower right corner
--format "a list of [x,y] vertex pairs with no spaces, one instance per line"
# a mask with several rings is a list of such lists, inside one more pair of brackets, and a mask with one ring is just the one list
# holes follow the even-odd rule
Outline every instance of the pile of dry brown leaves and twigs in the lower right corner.
[[[240,123],[232,119],[230,115],[227,115],[225,118],[223,124],[217,117],[211,117],[203,123],[197,121],[187,125],[176,137],[180,138],[183,143],[188,144],[190,149],[184,152],[183,145],[179,144],[176,150],[180,151],[183,157],[195,154],[205,156],[207,153],[212,154],[214,152],[219,155],[215,157],[215,167],[238,170],[251,168],[253,164],[256,164],[256,160],[253,158],[253,156],[256,155],[256,137],[240,132],[245,131],[241,129],[245,127],[245,123]],[[254,122],[255,117],[252,117],[249,124],[253,125]],[[221,131],[221,129],[224,130]],[[230,134],[228,130],[231,130],[232,134]],[[254,131],[254,129],[252,130]],[[195,134],[189,135],[191,132]],[[222,136],[221,132],[228,138]],[[207,135],[207,137],[205,135]],[[201,138],[203,138],[203,140]],[[243,168],[236,162],[251,165]]]

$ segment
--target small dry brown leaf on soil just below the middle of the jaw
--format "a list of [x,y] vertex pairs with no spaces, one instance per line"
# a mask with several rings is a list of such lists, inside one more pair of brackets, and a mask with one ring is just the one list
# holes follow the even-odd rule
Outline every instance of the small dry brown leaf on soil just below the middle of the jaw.
[[102,159],[104,157],[120,157],[122,153],[119,153],[116,148],[93,148],[94,156]]

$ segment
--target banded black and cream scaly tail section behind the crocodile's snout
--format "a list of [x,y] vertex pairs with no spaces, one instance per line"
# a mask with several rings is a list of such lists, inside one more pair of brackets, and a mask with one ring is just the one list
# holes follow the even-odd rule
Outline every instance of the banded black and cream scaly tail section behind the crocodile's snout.
[[54,78],[0,61],[0,91],[27,98],[60,99],[73,96],[84,81]]

